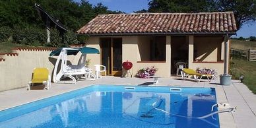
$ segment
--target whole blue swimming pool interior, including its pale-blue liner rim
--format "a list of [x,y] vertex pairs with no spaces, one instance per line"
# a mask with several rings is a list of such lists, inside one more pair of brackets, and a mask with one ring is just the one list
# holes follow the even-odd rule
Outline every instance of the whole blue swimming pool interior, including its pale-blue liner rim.
[[0,127],[219,127],[196,118],[214,104],[214,88],[93,85],[1,111]]

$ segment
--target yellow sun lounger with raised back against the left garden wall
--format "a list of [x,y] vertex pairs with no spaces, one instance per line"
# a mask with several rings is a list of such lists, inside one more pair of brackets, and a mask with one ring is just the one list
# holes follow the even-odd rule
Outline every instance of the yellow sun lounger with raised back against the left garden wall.
[[28,90],[30,90],[30,86],[34,83],[42,83],[46,84],[46,89],[49,90],[51,86],[51,77],[49,76],[48,68],[34,68],[32,80],[28,82]]

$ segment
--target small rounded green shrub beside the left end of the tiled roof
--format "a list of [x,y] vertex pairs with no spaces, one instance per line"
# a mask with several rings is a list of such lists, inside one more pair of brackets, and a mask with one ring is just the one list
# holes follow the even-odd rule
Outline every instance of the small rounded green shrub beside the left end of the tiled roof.
[[65,46],[68,46],[69,44],[79,44],[79,41],[77,40],[77,34],[72,31],[66,32],[63,36],[63,40]]

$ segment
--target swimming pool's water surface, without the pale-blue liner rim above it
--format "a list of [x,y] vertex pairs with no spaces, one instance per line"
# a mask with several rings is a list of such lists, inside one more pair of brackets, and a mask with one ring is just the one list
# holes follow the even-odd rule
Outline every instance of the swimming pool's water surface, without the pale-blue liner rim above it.
[[[201,119],[215,104],[210,94],[90,92],[0,123],[0,127],[218,127]],[[152,107],[164,110],[160,112]]]

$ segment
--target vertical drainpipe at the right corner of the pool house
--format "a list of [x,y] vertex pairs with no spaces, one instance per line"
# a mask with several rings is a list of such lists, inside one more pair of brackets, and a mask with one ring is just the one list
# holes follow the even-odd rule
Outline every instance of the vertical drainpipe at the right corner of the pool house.
[[226,34],[224,38],[224,76],[228,75],[228,41],[230,40],[230,37],[228,34]]

